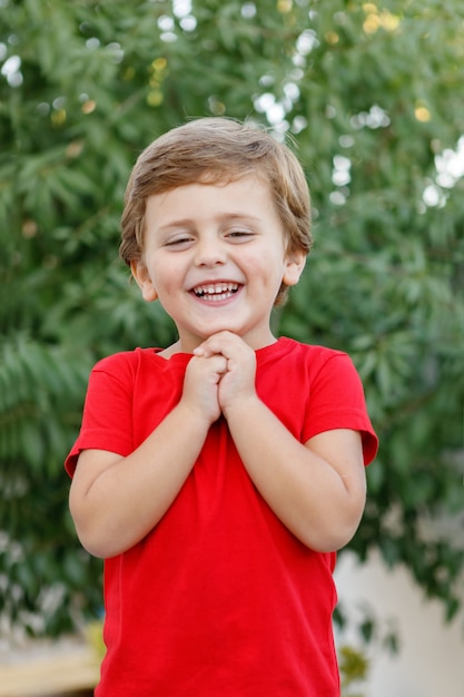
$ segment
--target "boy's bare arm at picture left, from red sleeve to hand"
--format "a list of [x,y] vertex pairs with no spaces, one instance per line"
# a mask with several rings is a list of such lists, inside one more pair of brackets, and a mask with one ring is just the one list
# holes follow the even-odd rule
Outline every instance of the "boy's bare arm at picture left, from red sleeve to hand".
[[219,355],[194,356],[179,403],[127,458],[102,450],[79,455],[69,504],[90,553],[107,558],[126,551],[165,514],[219,418],[217,384],[225,366]]

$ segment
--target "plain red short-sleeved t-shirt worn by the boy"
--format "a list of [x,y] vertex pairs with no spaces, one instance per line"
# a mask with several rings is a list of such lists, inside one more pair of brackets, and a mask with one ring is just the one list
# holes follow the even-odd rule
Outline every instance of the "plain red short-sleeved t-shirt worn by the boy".
[[[138,348],[100,361],[67,471],[83,449],[132,452],[179,401],[190,357]],[[365,463],[375,457],[346,354],[280,338],[257,351],[256,389],[302,443],[353,429]],[[273,513],[219,419],[164,518],[105,562],[96,697],[338,697],[334,565]]]

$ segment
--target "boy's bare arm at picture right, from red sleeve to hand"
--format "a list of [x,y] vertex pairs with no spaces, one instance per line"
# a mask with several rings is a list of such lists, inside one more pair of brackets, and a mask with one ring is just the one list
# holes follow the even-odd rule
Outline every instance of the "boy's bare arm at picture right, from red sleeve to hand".
[[229,332],[197,350],[200,355],[216,352],[228,366],[219,383],[219,404],[256,488],[307,547],[339,549],[355,533],[365,504],[359,433],[338,429],[302,444],[256,394],[255,352]]

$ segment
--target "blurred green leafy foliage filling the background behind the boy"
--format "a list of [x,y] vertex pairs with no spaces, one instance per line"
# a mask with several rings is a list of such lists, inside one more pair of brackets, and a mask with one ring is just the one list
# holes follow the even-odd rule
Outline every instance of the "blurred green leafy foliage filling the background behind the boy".
[[308,175],[315,249],[275,326],[363,376],[382,448],[351,547],[457,611],[464,178],[437,157],[462,136],[463,27],[451,0],[0,0],[0,611],[49,634],[97,611],[62,460],[92,363],[174,337],[117,259],[127,177],[223,114],[288,130]]

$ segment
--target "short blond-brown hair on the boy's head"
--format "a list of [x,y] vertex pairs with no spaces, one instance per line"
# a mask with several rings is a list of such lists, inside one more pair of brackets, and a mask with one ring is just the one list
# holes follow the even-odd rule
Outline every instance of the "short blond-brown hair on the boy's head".
[[[144,252],[147,198],[188,184],[219,184],[255,175],[269,185],[288,254],[312,246],[310,199],[293,151],[263,128],[229,118],[188,121],[154,140],[130,175],[121,218],[119,254],[130,265]],[[276,304],[285,302],[283,285]]]

